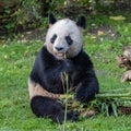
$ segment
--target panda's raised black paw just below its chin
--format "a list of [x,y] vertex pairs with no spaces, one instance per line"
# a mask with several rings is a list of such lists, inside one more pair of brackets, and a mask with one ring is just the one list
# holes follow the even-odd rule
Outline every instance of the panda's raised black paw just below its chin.
[[63,62],[64,71],[67,73],[72,73],[74,70],[73,62],[71,60],[66,59]]

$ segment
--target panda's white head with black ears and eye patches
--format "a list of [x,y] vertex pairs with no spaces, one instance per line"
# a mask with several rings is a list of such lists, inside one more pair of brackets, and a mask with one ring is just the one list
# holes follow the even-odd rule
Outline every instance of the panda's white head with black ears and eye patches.
[[57,59],[75,57],[82,50],[82,28],[85,27],[85,17],[81,16],[78,22],[70,19],[57,21],[49,15],[50,27],[46,36],[48,51]]

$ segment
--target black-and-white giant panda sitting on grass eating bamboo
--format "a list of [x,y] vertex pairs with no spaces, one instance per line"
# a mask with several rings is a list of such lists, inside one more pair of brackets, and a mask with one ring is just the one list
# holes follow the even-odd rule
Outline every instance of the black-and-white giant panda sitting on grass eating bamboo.
[[[84,16],[74,22],[70,19],[57,21],[49,14],[46,40],[28,79],[31,108],[37,117],[63,122],[66,108],[59,97],[67,90],[67,82],[61,76],[64,73],[69,78],[68,87],[74,92],[76,100],[87,103],[98,93],[98,80],[93,63],[83,50],[84,27]],[[67,120],[75,121],[78,116],[75,110],[68,110]]]

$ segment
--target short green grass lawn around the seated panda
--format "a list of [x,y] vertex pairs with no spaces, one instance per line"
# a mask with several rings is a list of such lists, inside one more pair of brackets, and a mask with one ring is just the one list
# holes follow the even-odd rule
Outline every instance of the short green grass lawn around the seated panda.
[[[92,35],[84,36],[84,49],[91,56],[98,76],[100,91],[128,88],[130,83],[121,83],[123,69],[119,69],[115,57],[131,45],[131,23],[112,21],[109,16],[97,16],[88,20],[97,26],[108,24],[120,33],[119,38],[107,39]],[[131,17],[128,17],[131,19]],[[62,126],[52,123],[50,119],[36,118],[29,108],[27,78],[36,53],[43,41],[22,43],[14,39],[0,44],[0,131],[61,131]],[[97,115],[66,123],[67,131],[130,131],[131,116],[105,117]]]

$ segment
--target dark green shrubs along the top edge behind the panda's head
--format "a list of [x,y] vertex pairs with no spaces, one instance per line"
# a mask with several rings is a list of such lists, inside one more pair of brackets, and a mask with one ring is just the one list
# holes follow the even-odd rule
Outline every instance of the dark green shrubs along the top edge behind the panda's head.
[[[38,27],[46,21],[48,12],[59,14],[61,12],[62,15],[68,14],[70,17],[74,12],[76,15],[81,14],[81,10],[85,10],[88,14],[90,11],[96,13],[97,10],[100,11],[105,7],[104,12],[107,12],[110,7],[112,9],[119,3],[120,8],[123,3],[127,3],[129,9],[131,7],[129,0],[1,0],[0,36]],[[75,7],[81,7],[81,9],[75,9]],[[124,4],[123,9],[127,9]]]

